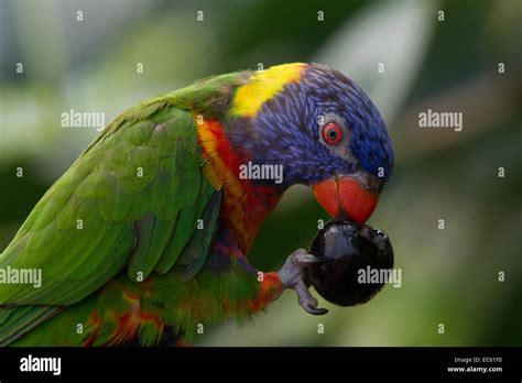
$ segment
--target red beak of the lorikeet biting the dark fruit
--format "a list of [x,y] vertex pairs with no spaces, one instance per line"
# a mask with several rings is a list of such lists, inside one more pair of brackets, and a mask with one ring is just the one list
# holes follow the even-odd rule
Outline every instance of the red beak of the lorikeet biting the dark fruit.
[[333,177],[312,186],[315,198],[331,217],[344,211],[359,225],[370,218],[379,200],[378,192],[365,188],[358,179]]

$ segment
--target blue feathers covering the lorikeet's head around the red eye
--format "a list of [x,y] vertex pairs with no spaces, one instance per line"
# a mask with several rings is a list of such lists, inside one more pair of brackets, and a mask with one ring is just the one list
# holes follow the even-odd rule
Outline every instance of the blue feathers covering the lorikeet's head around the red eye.
[[[344,141],[325,142],[325,124],[340,127]],[[305,65],[267,100],[259,113],[232,120],[232,145],[258,164],[282,164],[284,185],[313,184],[333,174],[365,172],[388,179],[393,150],[385,124],[365,91],[338,70]]]

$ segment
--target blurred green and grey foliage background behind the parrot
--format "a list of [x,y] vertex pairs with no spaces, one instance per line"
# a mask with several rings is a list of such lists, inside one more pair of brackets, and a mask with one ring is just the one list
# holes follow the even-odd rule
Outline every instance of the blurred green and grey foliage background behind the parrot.
[[[97,134],[61,128],[62,112],[110,120],[208,75],[316,62],[365,88],[389,127],[395,171],[369,223],[391,237],[402,286],[359,307],[322,302],[323,317],[289,291],[197,344],[520,346],[520,0],[0,0],[0,249]],[[428,108],[463,112],[464,130],[418,128]],[[320,218],[307,188],[289,190],[259,233],[253,265],[278,270],[308,247]]]

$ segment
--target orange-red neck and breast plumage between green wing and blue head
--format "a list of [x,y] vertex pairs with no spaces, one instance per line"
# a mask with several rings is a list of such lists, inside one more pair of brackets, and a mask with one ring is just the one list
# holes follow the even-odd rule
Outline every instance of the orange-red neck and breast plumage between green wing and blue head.
[[254,184],[242,176],[241,169],[248,166],[249,158],[242,158],[232,150],[219,121],[208,120],[196,125],[206,160],[205,175],[215,188],[225,190],[221,223],[231,230],[242,255],[248,255],[258,229],[285,188]]

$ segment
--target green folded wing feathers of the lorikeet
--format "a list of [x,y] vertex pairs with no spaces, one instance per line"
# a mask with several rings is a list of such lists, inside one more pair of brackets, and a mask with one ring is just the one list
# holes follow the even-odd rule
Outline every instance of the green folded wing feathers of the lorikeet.
[[[200,244],[189,247],[183,264],[191,274],[200,269],[221,192],[203,175],[193,114],[172,100],[121,114],[34,207],[0,267],[40,269],[42,286],[0,286],[0,343],[123,270],[133,281],[166,273],[196,234]],[[198,219],[205,234],[194,232]]]

